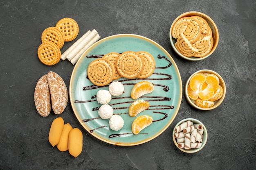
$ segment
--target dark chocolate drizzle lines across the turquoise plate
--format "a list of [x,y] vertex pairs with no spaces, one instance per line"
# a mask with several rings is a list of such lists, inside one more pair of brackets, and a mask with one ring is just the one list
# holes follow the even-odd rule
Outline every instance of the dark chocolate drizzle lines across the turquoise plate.
[[[104,54],[92,54],[92,55],[88,55],[86,56],[87,58],[102,58],[104,56]],[[168,65],[166,66],[163,66],[163,67],[155,67],[156,69],[166,69],[168,67],[170,67],[172,65],[171,61],[165,57],[165,56],[162,56],[161,54],[157,55],[157,58],[158,59],[165,59],[166,61],[168,61]],[[154,76],[150,76],[148,78],[144,78],[144,79],[139,79],[139,78],[132,78],[132,79],[123,79],[123,80],[118,80],[119,82],[122,82],[123,85],[135,85],[136,83],[129,83],[131,81],[138,81],[138,80],[171,80],[172,79],[172,76],[170,74],[165,74],[165,73],[160,73],[160,72],[154,72],[153,75],[156,75],[155,77]],[[86,76],[86,78],[89,80],[88,76]],[[97,85],[90,85],[90,86],[86,86],[86,87],[83,87],[83,91],[87,91],[87,90],[92,90],[92,89],[98,89],[98,88],[103,88],[103,87],[108,87],[112,82],[110,82],[108,85],[104,85],[104,86],[97,86]],[[163,84],[156,84],[156,83],[153,83],[154,86],[159,86],[159,87],[163,87],[163,90],[164,92],[168,92],[169,91],[169,87],[167,85],[163,85]],[[87,102],[97,102],[97,100],[95,99],[97,98],[96,95],[94,96],[91,96],[91,100],[74,100],[74,103],[87,103]],[[111,99],[111,101],[119,101],[121,99],[130,99],[131,97],[130,96],[124,96],[124,97],[113,97]],[[171,98],[169,97],[164,97],[164,96],[141,96],[140,98],[146,98],[145,100],[150,102],[150,101],[170,101]],[[111,103],[109,104],[110,106],[113,106],[113,105],[122,105],[122,104],[127,104],[127,103],[132,103],[134,101],[124,101],[124,102],[117,102],[117,103]],[[129,107],[112,107],[113,109],[117,110],[117,109],[129,109]],[[147,110],[164,110],[164,109],[173,109],[174,106],[172,105],[150,105],[150,107],[147,109]],[[92,111],[97,111],[99,110],[99,107],[94,107],[92,108]],[[164,112],[159,112],[159,111],[153,111],[154,114],[162,114],[163,117],[157,119],[157,120],[153,120],[153,122],[158,122],[158,121],[161,121],[161,120],[164,120],[165,118],[168,117],[168,114],[167,113],[164,113]],[[117,113],[117,115],[120,115],[120,114],[129,114],[129,113]],[[96,119],[99,119],[100,117],[96,117],[96,118],[89,118],[89,119],[84,119],[82,120],[82,122],[89,122],[89,121],[92,121],[92,120],[96,120]],[[106,126],[100,126],[96,129],[101,129],[101,128],[104,128],[104,127],[107,127],[108,125]],[[90,130],[91,133],[93,133],[94,130],[96,129],[92,129]],[[113,138],[113,137],[121,137],[123,135],[129,135],[129,134],[133,134],[133,133],[113,133],[111,135],[109,135],[108,137],[109,138]],[[145,134],[147,135],[148,133],[139,133],[139,134]]]

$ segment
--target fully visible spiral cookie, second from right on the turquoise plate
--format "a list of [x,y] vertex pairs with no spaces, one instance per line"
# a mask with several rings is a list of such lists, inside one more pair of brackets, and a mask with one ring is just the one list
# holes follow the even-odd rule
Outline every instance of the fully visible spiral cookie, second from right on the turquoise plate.
[[143,70],[142,59],[136,52],[126,51],[118,57],[116,67],[121,76],[136,78]]

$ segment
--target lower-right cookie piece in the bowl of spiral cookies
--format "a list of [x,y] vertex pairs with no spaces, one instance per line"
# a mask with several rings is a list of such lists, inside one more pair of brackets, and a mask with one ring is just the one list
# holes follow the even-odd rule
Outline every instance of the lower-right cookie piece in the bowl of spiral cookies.
[[204,57],[207,55],[213,47],[213,38],[211,36],[204,37],[203,39],[196,41],[193,47],[198,50],[194,57]]

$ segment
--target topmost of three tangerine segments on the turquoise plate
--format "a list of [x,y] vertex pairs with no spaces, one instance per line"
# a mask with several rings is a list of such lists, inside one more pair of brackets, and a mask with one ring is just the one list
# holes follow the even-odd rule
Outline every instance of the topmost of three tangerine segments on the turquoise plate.
[[131,97],[132,99],[137,99],[144,94],[148,94],[153,92],[154,90],[154,85],[153,83],[150,83],[148,81],[141,81],[139,83],[136,83],[131,91]]

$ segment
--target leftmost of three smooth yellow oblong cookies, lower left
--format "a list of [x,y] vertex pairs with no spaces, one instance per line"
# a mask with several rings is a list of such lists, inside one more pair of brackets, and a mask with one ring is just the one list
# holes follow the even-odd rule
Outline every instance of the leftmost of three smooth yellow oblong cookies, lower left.
[[64,127],[63,118],[59,117],[52,121],[52,125],[49,131],[48,140],[50,144],[54,147],[61,139],[61,133]]

